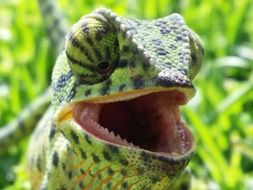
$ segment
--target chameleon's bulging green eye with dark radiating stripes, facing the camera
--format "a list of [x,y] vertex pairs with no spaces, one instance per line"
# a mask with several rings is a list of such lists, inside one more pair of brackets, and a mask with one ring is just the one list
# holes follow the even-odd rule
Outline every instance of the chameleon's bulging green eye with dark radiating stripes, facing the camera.
[[65,53],[81,82],[95,84],[106,80],[119,61],[115,28],[102,15],[87,15],[73,26],[66,39]]

